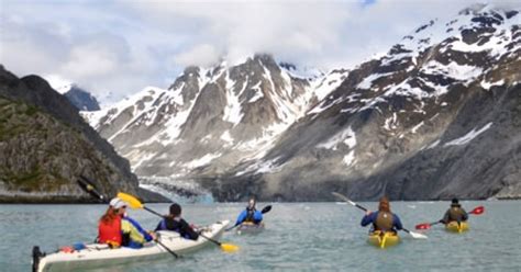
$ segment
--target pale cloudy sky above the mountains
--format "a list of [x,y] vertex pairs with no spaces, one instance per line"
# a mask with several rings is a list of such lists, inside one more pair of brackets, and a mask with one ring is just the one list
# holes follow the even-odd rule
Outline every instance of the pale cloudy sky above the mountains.
[[110,103],[146,86],[167,88],[184,67],[223,57],[269,53],[348,68],[475,2],[0,0],[0,64],[18,76],[76,82]]

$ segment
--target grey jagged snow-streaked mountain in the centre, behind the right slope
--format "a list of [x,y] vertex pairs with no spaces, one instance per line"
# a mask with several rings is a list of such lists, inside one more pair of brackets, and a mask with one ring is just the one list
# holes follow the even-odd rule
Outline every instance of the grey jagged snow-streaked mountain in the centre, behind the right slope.
[[306,71],[298,76],[295,66],[268,55],[236,66],[189,67],[167,90],[145,88],[84,116],[140,175],[213,177],[263,157],[347,75]]

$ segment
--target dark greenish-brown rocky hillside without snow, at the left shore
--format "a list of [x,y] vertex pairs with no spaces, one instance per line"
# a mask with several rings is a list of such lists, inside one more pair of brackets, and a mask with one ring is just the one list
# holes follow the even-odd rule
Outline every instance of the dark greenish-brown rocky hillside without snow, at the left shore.
[[140,189],[129,161],[42,78],[0,66],[0,202],[95,202],[76,183],[80,174],[107,195],[165,201]]

